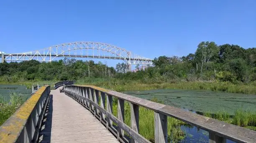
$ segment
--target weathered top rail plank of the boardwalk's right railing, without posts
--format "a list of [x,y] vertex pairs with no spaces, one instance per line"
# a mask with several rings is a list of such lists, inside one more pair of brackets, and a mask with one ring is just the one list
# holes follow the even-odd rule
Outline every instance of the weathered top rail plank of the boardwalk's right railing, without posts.
[[243,127],[235,126],[232,124],[224,123],[222,121],[218,121],[212,118],[207,118],[204,116],[200,116],[196,113],[191,113],[189,111],[184,111],[179,108],[174,108],[171,106],[154,103],[152,101],[147,101],[145,99],[140,99],[134,96],[129,96],[127,94],[119,93],[116,91],[111,91],[107,89],[98,88],[95,86],[81,86],[79,87],[90,87],[95,88],[99,91],[105,92],[108,95],[112,95],[114,97],[118,97],[119,99],[123,99],[132,104],[136,104],[138,106],[143,106],[145,108],[156,111],[157,113],[164,114],[166,116],[171,116],[177,118],[181,121],[189,123],[193,126],[197,126],[198,128],[202,128],[205,131],[209,131],[214,133],[218,137],[227,138],[236,142],[247,142],[254,143],[256,142],[256,131],[252,131]]

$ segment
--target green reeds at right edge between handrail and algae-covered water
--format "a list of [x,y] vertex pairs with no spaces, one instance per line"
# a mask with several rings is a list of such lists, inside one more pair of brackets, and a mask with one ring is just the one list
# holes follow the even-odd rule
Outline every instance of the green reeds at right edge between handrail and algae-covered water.
[[214,114],[204,113],[204,116],[256,131],[256,112],[253,111],[237,109],[235,115],[230,116],[227,111],[222,110]]

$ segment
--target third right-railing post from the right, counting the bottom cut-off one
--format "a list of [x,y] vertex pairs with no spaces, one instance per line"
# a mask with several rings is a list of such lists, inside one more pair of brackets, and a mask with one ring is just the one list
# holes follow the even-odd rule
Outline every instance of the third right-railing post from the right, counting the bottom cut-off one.
[[[139,106],[133,103],[131,104],[131,128],[139,132]],[[137,143],[134,141],[133,138],[131,138],[131,143]]]

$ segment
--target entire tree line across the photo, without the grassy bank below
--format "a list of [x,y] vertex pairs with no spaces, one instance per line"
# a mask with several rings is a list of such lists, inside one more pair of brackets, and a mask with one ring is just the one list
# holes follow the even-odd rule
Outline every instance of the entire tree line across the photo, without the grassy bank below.
[[[256,81],[256,48],[200,42],[195,53],[183,57],[160,56],[154,66],[127,72],[125,63],[108,67],[101,62],[61,59],[52,62],[35,60],[0,64],[0,82],[26,80],[67,80],[113,77],[148,83],[186,81],[227,81],[233,84]],[[136,66],[138,68],[138,65]]]

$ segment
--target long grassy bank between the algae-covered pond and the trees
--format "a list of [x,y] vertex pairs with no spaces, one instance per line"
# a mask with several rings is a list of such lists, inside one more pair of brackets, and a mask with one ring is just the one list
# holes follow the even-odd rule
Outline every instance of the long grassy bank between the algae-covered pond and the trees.
[[80,79],[76,84],[93,84],[115,91],[130,91],[130,90],[150,90],[150,89],[207,89],[212,91],[225,91],[229,93],[256,94],[256,85],[252,84],[232,84],[229,82],[217,81],[173,81],[173,82],[151,82],[145,81],[127,81],[120,79]]

